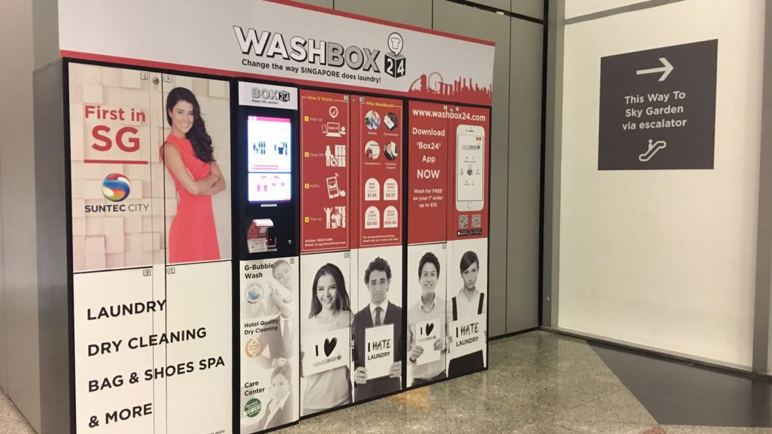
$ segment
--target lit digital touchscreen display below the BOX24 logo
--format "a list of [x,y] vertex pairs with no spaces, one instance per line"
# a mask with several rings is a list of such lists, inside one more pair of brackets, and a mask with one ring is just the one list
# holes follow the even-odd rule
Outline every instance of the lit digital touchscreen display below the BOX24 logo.
[[292,198],[292,122],[285,117],[247,117],[249,202]]

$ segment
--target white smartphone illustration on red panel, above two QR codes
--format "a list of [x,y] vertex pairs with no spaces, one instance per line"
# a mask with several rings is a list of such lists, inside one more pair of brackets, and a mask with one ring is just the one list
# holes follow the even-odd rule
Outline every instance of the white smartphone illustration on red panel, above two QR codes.
[[479,125],[455,128],[455,209],[480,211],[484,205],[485,129]]

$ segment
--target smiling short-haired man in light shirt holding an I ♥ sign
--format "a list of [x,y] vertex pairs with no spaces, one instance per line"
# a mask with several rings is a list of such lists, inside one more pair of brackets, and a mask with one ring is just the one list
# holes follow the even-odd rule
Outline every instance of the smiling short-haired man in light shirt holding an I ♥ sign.
[[408,309],[408,360],[413,366],[412,386],[445,378],[445,300],[436,296],[439,259],[427,252],[418,262],[421,300]]

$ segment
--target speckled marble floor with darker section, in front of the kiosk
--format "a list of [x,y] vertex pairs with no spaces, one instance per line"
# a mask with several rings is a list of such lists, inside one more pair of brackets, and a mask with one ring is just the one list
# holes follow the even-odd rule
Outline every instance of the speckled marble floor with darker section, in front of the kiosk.
[[[770,383],[534,331],[488,371],[330,412],[281,433],[772,434]],[[0,394],[0,434],[34,432]]]

